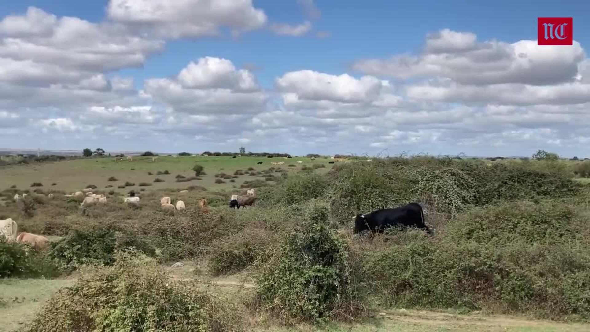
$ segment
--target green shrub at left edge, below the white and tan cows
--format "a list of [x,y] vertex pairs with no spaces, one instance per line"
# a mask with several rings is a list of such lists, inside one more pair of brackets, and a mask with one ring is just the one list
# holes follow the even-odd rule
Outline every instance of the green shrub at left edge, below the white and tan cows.
[[7,242],[0,236],[0,278],[58,275],[57,268],[42,253],[27,249],[22,243]]

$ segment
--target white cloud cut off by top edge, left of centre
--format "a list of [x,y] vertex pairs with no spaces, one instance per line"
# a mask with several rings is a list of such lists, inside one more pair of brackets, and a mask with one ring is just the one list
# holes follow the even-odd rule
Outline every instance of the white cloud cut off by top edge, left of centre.
[[251,0],[110,0],[107,15],[162,38],[218,35],[221,27],[239,33],[267,22]]

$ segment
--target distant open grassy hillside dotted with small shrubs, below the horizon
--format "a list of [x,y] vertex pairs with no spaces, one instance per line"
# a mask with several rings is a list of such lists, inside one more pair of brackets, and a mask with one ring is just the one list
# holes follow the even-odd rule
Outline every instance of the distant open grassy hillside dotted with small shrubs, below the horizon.
[[[258,165],[257,162],[263,162]],[[297,161],[303,161],[303,164]],[[140,188],[146,190],[158,190],[162,188],[184,189],[189,185],[201,185],[203,187],[215,190],[227,190],[232,187],[239,188],[244,181],[264,180],[260,175],[250,175],[247,171],[249,167],[255,171],[262,171],[270,168],[271,162],[284,162],[284,165],[274,165],[276,168],[282,168],[289,172],[301,170],[302,165],[311,167],[313,164],[326,165],[325,168],[319,168],[318,173],[327,172],[332,164],[328,164],[329,159],[318,158],[311,161],[310,158],[265,158],[265,157],[158,157],[158,161],[153,162],[152,157],[133,157],[133,161],[115,161],[115,158],[89,158],[83,160],[47,162],[42,164],[19,165],[12,167],[0,168],[0,190],[16,185],[17,188],[34,189],[30,185],[34,182],[43,184],[44,190],[62,190],[66,193],[81,190],[87,185],[96,185],[99,190],[114,190],[119,193],[126,193],[130,190],[139,191]],[[180,174],[186,178],[193,177],[195,174],[192,167],[195,164],[204,167],[205,175],[202,180],[192,180],[188,182],[176,182],[176,175]],[[289,165],[295,165],[289,167]],[[156,175],[158,171],[168,170],[170,174]],[[236,170],[247,171],[244,175],[235,178],[235,183],[230,179],[224,179],[225,183],[216,184],[215,174],[225,173],[233,175]],[[148,175],[152,172],[153,175]],[[109,177],[115,177],[118,181],[108,181]],[[156,178],[164,180],[163,182],[153,182]],[[117,188],[126,181],[135,183],[135,186],[129,186],[124,189]],[[139,187],[139,184],[145,182],[151,184],[149,187]],[[55,183],[55,185],[51,185]],[[107,185],[113,187],[106,188]]]

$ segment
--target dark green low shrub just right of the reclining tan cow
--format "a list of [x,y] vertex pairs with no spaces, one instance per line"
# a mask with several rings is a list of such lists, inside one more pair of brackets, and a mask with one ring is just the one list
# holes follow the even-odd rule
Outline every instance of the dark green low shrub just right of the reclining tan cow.
[[115,251],[127,247],[155,255],[155,250],[135,233],[113,224],[101,224],[71,230],[53,245],[50,257],[60,269],[72,271],[83,265],[112,265]]

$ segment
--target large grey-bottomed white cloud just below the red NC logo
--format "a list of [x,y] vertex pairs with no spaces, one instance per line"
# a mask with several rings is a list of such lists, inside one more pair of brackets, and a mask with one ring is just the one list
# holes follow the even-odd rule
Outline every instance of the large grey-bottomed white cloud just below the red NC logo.
[[428,34],[418,56],[358,60],[352,67],[365,74],[398,79],[441,77],[460,84],[547,85],[572,82],[585,58],[577,41],[572,47],[539,46],[534,40],[478,42],[470,32],[445,29]]

